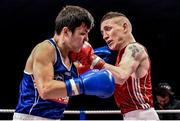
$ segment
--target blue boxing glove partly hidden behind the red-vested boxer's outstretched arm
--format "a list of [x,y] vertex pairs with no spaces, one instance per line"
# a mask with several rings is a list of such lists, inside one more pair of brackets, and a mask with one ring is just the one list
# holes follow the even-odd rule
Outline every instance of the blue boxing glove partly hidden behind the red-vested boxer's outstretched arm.
[[117,51],[110,50],[109,47],[106,45],[99,48],[95,48],[94,54],[101,57],[106,63],[115,65],[118,53]]

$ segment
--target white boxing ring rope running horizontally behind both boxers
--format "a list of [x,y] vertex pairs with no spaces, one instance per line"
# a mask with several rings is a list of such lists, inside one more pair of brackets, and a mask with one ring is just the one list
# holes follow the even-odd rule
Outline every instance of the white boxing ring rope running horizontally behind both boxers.
[[[0,113],[14,113],[14,109],[0,109]],[[121,114],[120,110],[91,110],[91,111],[78,111],[78,110],[65,110],[64,114]],[[156,110],[157,113],[180,113],[180,110]]]

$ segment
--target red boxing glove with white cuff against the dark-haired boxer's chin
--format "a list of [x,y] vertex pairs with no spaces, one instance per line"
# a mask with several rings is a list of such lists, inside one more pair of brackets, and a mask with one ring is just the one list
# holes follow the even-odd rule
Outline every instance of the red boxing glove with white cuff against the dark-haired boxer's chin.
[[92,46],[85,41],[81,50],[76,52],[71,52],[70,58],[73,62],[79,61],[83,66],[87,66],[90,69],[101,69],[105,61],[94,54]]

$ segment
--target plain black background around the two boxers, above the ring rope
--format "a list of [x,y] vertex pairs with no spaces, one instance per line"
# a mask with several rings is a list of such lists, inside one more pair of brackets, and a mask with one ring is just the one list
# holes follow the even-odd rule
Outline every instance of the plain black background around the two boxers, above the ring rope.
[[[105,44],[99,21],[108,11],[119,11],[132,22],[135,39],[146,46],[152,63],[153,88],[168,82],[180,98],[178,0],[1,0],[0,1],[0,109],[14,109],[24,65],[32,48],[54,34],[54,20],[65,5],[79,5],[95,18],[90,32],[94,48]],[[77,96],[68,109],[117,109],[113,97]],[[1,115],[0,115],[1,117]],[[8,117],[8,116],[6,116]],[[104,117],[104,116],[102,116]],[[113,116],[114,117],[114,116]],[[107,118],[106,118],[107,119]]]

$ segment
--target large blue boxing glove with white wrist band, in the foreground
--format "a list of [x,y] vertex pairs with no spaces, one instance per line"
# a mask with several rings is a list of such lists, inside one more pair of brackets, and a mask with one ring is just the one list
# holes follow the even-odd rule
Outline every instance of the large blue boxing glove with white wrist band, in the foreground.
[[108,98],[115,89],[114,77],[105,69],[87,71],[79,78],[66,80],[65,84],[68,96],[85,94]]

